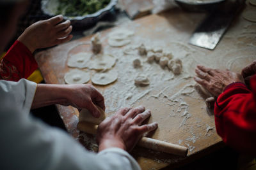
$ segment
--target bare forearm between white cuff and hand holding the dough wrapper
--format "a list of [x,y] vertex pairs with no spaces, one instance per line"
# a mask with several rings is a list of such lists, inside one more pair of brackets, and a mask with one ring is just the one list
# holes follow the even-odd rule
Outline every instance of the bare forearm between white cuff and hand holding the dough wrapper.
[[68,85],[38,84],[31,108],[40,108],[51,104],[68,104]]

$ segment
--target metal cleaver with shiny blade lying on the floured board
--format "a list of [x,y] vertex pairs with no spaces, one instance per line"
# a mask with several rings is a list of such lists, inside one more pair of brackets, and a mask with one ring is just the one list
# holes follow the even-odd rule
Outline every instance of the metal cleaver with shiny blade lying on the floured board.
[[213,11],[196,28],[189,39],[189,44],[214,50],[240,7],[241,5],[236,4],[230,11]]

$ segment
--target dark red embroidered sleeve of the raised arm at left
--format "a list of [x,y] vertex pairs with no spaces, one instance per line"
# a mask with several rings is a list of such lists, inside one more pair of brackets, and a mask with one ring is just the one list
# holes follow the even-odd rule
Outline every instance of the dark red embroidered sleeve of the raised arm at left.
[[19,81],[28,78],[37,67],[29,49],[20,41],[15,41],[0,61],[0,80]]

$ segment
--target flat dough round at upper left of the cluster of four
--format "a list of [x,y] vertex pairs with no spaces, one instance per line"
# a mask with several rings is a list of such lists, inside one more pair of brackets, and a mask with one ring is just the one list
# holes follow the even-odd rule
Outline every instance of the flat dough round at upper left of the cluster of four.
[[68,59],[67,65],[69,67],[85,68],[92,55],[90,53],[81,52],[71,55]]

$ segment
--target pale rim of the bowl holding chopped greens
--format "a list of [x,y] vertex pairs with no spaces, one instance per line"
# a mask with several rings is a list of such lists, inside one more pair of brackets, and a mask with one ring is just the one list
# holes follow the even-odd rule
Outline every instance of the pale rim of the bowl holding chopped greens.
[[[51,13],[47,10],[47,3],[49,3],[51,0],[42,0],[41,1],[41,9],[44,12],[44,14],[49,15],[49,16],[55,16],[55,13]],[[83,15],[83,16],[76,16],[76,17],[68,17],[63,15],[63,18],[65,20],[83,20],[84,18],[94,18],[94,17],[99,17],[104,13],[105,11],[111,10],[114,6],[116,6],[118,0],[111,0],[107,6],[104,8],[100,9],[99,11],[96,11],[95,13],[91,13],[88,15]]]

